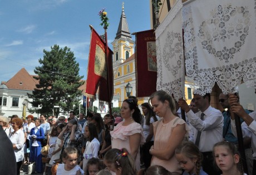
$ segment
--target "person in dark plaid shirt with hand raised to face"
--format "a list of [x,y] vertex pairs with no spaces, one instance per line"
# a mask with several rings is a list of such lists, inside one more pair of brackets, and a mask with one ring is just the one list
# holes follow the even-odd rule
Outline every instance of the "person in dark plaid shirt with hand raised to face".
[[60,135],[58,135],[58,138],[60,140],[63,140],[61,156],[64,149],[69,146],[76,147],[78,151],[81,151],[82,137],[83,136],[81,131],[79,130],[77,121],[76,120],[68,121],[67,126],[61,131]]

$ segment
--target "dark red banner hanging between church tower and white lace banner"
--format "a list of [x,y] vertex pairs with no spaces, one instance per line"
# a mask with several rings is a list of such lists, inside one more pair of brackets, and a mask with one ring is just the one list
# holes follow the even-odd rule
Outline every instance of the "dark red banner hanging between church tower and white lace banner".
[[156,91],[157,65],[154,30],[136,33],[136,96],[150,96]]

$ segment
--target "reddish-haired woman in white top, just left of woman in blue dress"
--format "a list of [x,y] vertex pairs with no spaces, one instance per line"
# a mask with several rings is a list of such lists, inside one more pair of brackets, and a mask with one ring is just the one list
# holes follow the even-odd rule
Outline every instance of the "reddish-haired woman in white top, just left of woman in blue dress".
[[31,129],[36,126],[33,123],[34,117],[32,115],[28,115],[27,120],[28,120],[28,122],[24,123],[24,125],[23,125],[23,130],[24,130],[24,132],[27,133],[26,144],[24,145],[24,156],[25,156],[24,164],[28,163],[28,154],[30,152],[30,146],[32,144],[31,140],[29,140],[29,134],[30,134]]

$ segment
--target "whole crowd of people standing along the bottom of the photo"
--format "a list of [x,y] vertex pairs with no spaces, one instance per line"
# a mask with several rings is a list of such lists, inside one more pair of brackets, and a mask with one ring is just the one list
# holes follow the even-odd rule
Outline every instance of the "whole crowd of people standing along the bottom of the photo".
[[93,112],[76,117],[74,111],[67,121],[44,114],[35,121],[32,115],[26,120],[13,115],[11,121],[0,116],[0,157],[9,160],[1,163],[0,172],[19,174],[23,164],[35,164],[35,173],[43,174],[51,168],[52,174],[243,175],[234,113],[241,118],[248,145],[248,174],[255,174],[255,112],[244,110],[232,94],[220,94],[219,103],[228,111],[211,107],[210,94],[194,94],[187,104],[159,90],[141,104],[143,115],[136,97],[130,96],[122,102],[120,114],[103,119]]

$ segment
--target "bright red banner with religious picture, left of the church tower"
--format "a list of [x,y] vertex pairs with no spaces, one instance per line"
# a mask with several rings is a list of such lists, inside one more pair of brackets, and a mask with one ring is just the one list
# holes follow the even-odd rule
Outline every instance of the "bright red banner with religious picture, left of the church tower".
[[[95,29],[91,28],[91,44],[88,58],[86,96],[95,96],[99,88],[99,100],[111,102],[113,97],[112,50],[107,49],[105,41]],[[107,59],[106,59],[107,58]]]

